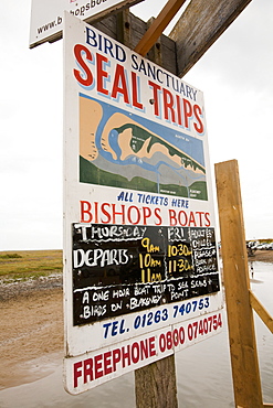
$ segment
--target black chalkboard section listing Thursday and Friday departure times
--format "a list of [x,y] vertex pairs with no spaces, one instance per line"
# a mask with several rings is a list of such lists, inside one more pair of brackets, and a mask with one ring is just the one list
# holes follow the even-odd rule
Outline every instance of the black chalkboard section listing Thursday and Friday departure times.
[[220,290],[213,228],[73,224],[74,325]]

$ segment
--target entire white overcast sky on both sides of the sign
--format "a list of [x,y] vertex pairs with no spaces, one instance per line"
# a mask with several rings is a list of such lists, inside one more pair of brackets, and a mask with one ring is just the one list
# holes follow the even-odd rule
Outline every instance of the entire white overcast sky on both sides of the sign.
[[[29,50],[29,0],[2,8],[0,249],[62,245],[62,41]],[[249,238],[273,237],[272,39],[273,2],[253,0],[185,78],[204,92],[211,162],[239,160]]]

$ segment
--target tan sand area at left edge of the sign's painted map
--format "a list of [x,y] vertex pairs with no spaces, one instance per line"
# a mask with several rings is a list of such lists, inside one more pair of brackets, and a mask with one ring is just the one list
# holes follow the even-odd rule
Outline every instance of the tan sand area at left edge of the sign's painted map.
[[80,97],[80,154],[86,160],[95,160],[98,155],[95,136],[102,117],[101,104]]

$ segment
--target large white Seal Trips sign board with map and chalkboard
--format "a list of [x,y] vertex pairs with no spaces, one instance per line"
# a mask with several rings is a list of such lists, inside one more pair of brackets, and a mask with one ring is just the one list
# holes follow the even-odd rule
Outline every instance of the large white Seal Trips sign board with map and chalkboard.
[[65,13],[65,383],[77,394],[217,334],[202,93]]

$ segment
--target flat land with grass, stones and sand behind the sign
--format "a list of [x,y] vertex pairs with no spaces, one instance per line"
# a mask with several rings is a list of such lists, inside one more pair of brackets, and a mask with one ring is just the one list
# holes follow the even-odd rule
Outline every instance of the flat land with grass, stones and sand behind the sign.
[[[273,250],[250,260],[273,262]],[[46,376],[63,351],[62,251],[0,253],[0,389]]]

